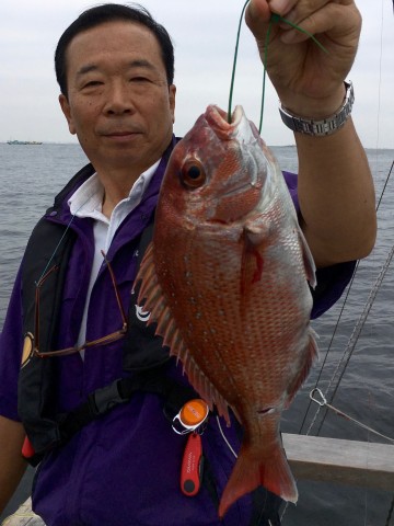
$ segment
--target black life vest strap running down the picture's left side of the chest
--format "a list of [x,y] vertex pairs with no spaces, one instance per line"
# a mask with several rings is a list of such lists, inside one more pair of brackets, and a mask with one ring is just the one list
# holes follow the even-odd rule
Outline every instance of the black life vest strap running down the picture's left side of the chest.
[[[93,167],[83,168],[55,198],[48,213],[60,211],[62,198],[78,181],[86,179]],[[22,262],[23,335],[36,334],[36,291],[39,294],[39,351],[50,351],[58,330],[59,309],[68,261],[76,233],[63,225],[42,218],[27,242]],[[56,422],[56,361],[31,356],[19,375],[18,411],[36,450],[44,450],[59,441]]]

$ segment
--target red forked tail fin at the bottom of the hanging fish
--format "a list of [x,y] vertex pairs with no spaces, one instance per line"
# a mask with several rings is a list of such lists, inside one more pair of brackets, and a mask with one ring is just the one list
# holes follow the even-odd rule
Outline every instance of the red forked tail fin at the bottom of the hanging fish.
[[244,494],[264,485],[268,491],[281,496],[285,501],[297,502],[298,491],[285,450],[279,445],[269,457],[256,456],[251,447],[241,448],[241,454],[230,480],[224,488],[219,517],[222,518],[229,507]]

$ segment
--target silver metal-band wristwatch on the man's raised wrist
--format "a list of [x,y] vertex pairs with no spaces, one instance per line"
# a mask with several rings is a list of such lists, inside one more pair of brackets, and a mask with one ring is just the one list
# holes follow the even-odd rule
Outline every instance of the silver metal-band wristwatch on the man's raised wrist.
[[279,106],[281,119],[286,126],[299,134],[324,137],[332,135],[344,126],[348,119],[355,102],[355,92],[351,81],[345,82],[346,95],[339,110],[328,117],[316,121],[293,115],[282,105]]

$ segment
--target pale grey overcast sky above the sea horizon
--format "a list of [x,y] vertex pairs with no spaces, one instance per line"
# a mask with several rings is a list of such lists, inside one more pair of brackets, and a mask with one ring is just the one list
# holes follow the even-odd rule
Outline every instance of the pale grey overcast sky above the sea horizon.
[[[184,135],[210,103],[227,108],[239,16],[244,0],[141,0],[174,41],[177,105],[175,133]],[[63,30],[89,0],[15,0],[0,5],[0,141],[70,142],[58,105],[53,56]],[[364,147],[394,148],[394,16],[392,0],[358,0],[362,37],[349,79],[354,118]],[[234,103],[258,122],[262,64],[243,26]],[[263,137],[293,144],[281,124],[277,96],[267,88]]]

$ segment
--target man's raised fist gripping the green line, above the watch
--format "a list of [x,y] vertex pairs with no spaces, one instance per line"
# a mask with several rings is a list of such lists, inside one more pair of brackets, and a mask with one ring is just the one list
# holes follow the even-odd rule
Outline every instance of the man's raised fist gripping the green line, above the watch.
[[361,15],[352,0],[251,0],[245,20],[262,60],[273,13],[313,34],[275,22],[267,48],[267,73],[285,107],[304,117],[335,113],[345,96],[344,80],[354,62]]

